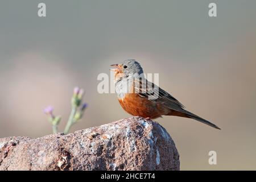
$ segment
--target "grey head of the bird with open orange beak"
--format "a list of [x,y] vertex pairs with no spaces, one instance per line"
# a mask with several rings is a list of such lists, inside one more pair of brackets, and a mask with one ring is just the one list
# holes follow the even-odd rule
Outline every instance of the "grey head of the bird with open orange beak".
[[135,74],[141,75],[143,73],[141,64],[139,64],[138,61],[134,59],[124,60],[122,63],[112,64],[110,66],[114,68],[115,76],[120,78]]

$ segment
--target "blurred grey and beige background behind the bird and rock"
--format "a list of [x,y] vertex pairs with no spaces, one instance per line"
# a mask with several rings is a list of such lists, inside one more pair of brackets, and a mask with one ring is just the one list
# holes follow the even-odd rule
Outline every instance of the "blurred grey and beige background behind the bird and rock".
[[[174,139],[182,170],[256,169],[256,1],[44,0],[47,17],[39,18],[40,2],[0,3],[1,138],[51,134],[48,105],[63,117],[63,131],[75,86],[89,106],[71,131],[130,117],[115,94],[97,92],[97,76],[137,59],[189,111],[222,129],[156,119]],[[208,163],[211,150],[217,165]]]

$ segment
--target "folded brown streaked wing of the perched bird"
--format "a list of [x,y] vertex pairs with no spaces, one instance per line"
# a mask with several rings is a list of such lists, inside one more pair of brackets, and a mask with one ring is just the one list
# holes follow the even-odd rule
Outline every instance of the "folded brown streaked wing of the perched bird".
[[147,98],[151,102],[163,104],[176,111],[184,111],[184,106],[176,98],[146,79],[135,80],[134,90],[139,96]]

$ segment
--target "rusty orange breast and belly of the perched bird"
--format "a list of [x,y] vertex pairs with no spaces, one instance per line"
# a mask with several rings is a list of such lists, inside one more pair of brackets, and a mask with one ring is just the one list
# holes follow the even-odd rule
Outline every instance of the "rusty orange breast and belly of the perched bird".
[[137,93],[127,93],[124,98],[118,100],[123,109],[134,116],[154,119],[167,114],[169,111],[166,107],[155,104]]

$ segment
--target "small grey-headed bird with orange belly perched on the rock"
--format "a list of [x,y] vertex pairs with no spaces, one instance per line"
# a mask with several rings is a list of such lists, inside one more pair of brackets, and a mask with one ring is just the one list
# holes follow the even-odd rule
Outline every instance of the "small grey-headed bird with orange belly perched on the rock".
[[119,104],[127,113],[146,119],[156,119],[163,115],[191,118],[221,130],[217,125],[185,110],[184,105],[171,94],[148,81],[139,61],[127,59],[110,67],[114,71]]

